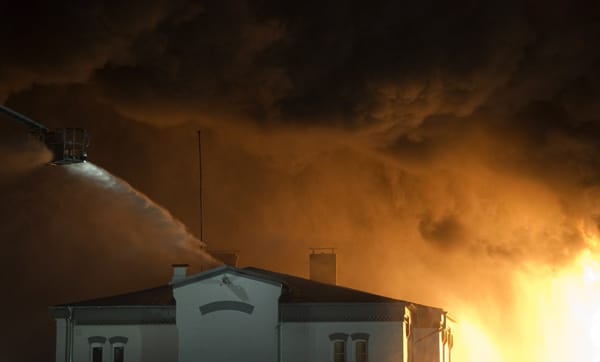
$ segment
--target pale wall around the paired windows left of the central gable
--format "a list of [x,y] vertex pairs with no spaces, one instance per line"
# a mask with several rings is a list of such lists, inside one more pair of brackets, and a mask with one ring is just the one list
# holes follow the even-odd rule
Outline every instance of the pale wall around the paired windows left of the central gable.
[[[57,319],[57,362],[65,361],[64,336],[64,319]],[[73,361],[91,361],[90,338],[98,340],[94,337],[105,338],[102,344],[103,362],[112,362],[112,337],[127,338],[124,343],[127,362],[177,362],[177,328],[173,324],[76,325],[73,333]]]

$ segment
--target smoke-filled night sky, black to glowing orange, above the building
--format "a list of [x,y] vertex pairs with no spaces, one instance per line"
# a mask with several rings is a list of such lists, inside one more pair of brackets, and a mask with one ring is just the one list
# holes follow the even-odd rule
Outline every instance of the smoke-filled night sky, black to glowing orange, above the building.
[[[343,285],[510,311],[511,273],[560,268],[598,232],[596,1],[3,1],[0,16],[0,103],[88,129],[92,163],[196,236],[203,131],[204,241],[242,266],[307,276],[308,248],[336,247]],[[147,202],[44,165],[10,119],[0,131],[0,361],[53,359],[49,305],[200,268]]]

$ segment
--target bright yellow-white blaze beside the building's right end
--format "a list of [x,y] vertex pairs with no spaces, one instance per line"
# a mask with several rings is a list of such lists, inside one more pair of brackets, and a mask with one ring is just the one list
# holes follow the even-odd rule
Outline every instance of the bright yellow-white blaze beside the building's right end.
[[600,362],[599,238],[582,235],[587,247],[568,265],[507,276],[514,305],[458,302],[453,361]]

